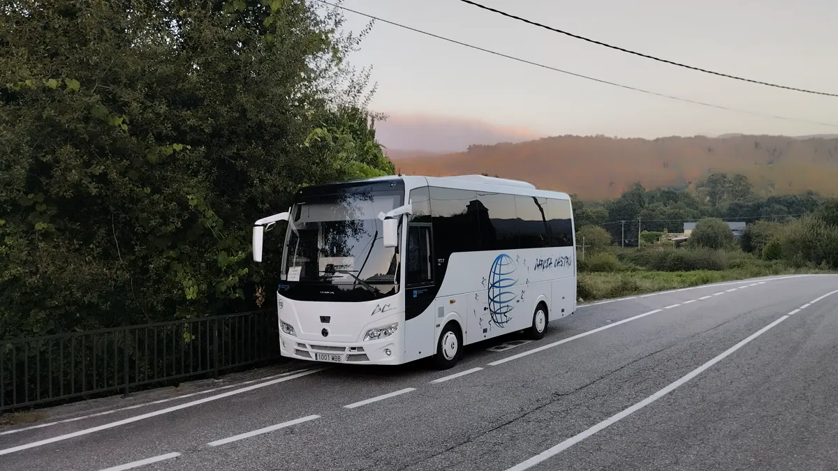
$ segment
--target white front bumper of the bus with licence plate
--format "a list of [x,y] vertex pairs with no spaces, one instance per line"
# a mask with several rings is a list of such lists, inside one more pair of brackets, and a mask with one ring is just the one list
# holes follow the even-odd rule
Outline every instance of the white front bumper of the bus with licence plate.
[[404,358],[404,352],[396,345],[397,336],[361,344],[298,339],[284,332],[280,332],[279,339],[281,355],[297,360],[356,365],[399,365]]

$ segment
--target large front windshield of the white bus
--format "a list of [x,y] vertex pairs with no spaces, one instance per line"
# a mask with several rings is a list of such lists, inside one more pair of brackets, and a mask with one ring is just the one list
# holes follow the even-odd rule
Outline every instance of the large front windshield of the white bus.
[[398,250],[384,246],[378,218],[401,194],[348,192],[297,200],[288,220],[282,280],[288,298],[362,301],[398,291]]

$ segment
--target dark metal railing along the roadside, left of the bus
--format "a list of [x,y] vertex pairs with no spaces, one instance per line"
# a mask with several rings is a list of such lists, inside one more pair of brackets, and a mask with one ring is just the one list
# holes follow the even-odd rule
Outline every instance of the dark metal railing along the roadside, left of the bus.
[[279,357],[276,311],[0,340],[0,411],[151,386]]

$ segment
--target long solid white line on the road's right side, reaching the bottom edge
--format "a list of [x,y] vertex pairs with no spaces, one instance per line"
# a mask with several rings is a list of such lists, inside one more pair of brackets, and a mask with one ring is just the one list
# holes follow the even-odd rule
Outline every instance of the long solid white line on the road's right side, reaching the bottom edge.
[[695,378],[697,375],[700,375],[702,372],[710,368],[712,365],[716,365],[716,363],[718,363],[719,361],[724,360],[724,358],[727,357],[727,355],[731,355],[733,352],[737,351],[737,349],[741,349],[743,346],[751,342],[753,339],[756,339],[757,337],[768,331],[768,329],[772,329],[775,325],[783,322],[787,318],[789,318],[789,316],[783,316],[775,320],[773,323],[769,323],[767,326],[763,327],[762,329],[759,329],[756,333],[748,336],[747,339],[744,339],[738,344],[733,345],[731,348],[725,350],[721,355],[716,356],[716,358],[706,362],[704,365],[699,366],[695,370],[692,370],[687,375],[682,376],[679,380],[676,380],[674,383],[670,384],[670,386],[666,386],[664,389],[655,392],[652,396],[649,396],[643,401],[639,401],[637,404],[634,404],[634,406],[631,406],[628,409],[625,409],[624,411],[618,412],[617,414],[608,417],[603,422],[599,422],[597,423],[597,425],[588,428],[585,432],[578,433],[577,435],[574,435],[573,437],[566,439],[564,442],[561,442],[552,448],[548,448],[546,451],[541,452],[522,463],[516,464],[515,466],[507,469],[506,471],[523,471],[524,469],[532,468],[536,464],[546,461],[546,459],[556,456],[556,454],[563,452],[567,448],[571,448],[573,445],[582,442],[582,440],[592,436],[594,433],[612,426],[614,423],[619,422],[625,417],[629,417],[634,412],[639,411],[645,406],[649,406],[649,404],[651,404],[652,402],[657,401],[658,399],[669,394],[672,391],[675,391],[675,389],[679,386],[684,385],[687,381]]

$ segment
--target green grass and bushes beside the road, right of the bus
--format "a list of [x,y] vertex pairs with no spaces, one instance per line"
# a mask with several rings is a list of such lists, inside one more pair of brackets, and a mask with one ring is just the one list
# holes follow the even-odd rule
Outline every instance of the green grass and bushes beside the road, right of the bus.
[[[597,226],[582,227],[578,297],[583,303],[751,277],[838,270],[838,200],[814,215],[779,223],[758,220],[736,240],[719,219],[700,220],[684,246],[644,232],[639,247],[620,248]],[[595,241],[595,242],[588,242]]]

